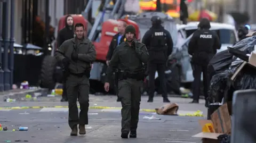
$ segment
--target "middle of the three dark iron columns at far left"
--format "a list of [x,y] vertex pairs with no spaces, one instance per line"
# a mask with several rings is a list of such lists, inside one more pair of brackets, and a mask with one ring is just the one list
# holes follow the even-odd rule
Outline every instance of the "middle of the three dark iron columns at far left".
[[10,90],[10,70],[8,68],[8,52],[9,52],[9,5],[10,1],[3,3],[3,41],[4,41],[4,57],[3,57],[3,70],[4,70],[4,90]]

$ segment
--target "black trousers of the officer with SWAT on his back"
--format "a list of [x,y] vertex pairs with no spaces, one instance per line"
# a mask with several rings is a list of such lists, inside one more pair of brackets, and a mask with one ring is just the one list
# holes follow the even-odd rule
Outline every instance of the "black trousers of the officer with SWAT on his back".
[[166,79],[165,79],[165,63],[148,63],[148,77],[149,77],[149,98],[154,97],[155,92],[155,74],[158,73],[160,86],[162,87],[162,97],[167,97]]

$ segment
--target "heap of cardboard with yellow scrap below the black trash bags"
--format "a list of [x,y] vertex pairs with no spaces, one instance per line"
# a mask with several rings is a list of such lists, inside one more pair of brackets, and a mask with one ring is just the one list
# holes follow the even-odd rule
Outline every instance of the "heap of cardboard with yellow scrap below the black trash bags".
[[228,104],[223,104],[211,115],[211,120],[198,120],[202,132],[192,137],[202,138],[203,143],[230,143],[231,118]]

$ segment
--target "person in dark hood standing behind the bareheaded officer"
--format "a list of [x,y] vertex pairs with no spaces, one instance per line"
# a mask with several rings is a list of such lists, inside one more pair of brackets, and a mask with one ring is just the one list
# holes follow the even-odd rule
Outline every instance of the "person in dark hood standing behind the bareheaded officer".
[[[71,15],[66,16],[66,26],[65,28],[61,29],[58,33],[58,38],[57,38],[57,44],[58,47],[62,45],[62,43],[66,40],[74,38],[74,21],[73,17]],[[61,102],[67,102],[68,97],[67,97],[67,89],[66,89],[66,72],[63,71],[63,93],[62,93],[62,99],[60,100]]]

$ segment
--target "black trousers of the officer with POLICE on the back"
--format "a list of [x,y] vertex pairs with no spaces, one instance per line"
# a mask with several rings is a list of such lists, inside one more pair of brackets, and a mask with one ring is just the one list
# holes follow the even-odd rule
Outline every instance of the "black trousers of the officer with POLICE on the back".
[[210,77],[207,73],[207,66],[197,65],[197,64],[191,64],[191,67],[193,69],[193,76],[194,76],[194,82],[193,82],[193,99],[199,100],[199,96],[201,94],[201,74],[203,72],[203,84],[204,84],[204,97],[207,99],[208,97],[208,89],[210,86]]

